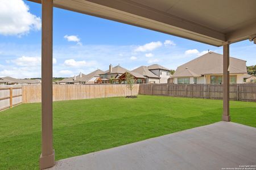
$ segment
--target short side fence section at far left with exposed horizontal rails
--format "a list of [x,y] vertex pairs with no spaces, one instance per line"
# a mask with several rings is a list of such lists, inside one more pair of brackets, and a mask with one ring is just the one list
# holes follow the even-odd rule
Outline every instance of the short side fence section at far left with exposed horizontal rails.
[[0,86],[0,111],[22,103],[22,87]]

